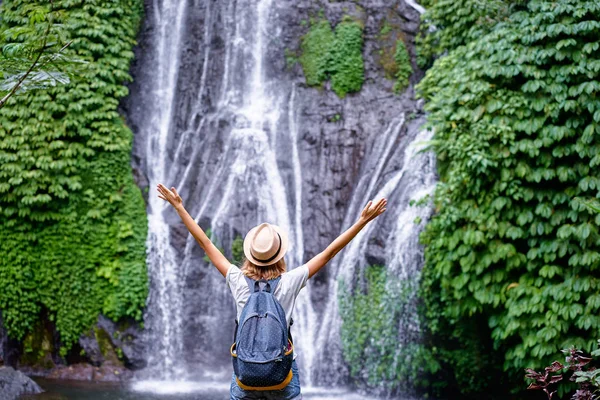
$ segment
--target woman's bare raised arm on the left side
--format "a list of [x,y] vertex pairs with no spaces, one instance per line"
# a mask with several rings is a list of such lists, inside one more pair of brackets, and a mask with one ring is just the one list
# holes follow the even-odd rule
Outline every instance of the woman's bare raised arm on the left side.
[[206,255],[214,266],[217,267],[223,276],[227,275],[231,263],[225,258],[217,246],[210,241],[208,236],[206,236],[206,233],[204,233],[202,228],[200,228],[185,207],[183,207],[183,200],[177,193],[177,190],[174,187],[169,190],[161,183],[157,185],[156,189],[159,193],[158,197],[168,201],[175,208],[186,228],[188,228],[194,239],[196,239],[200,247],[206,252]]

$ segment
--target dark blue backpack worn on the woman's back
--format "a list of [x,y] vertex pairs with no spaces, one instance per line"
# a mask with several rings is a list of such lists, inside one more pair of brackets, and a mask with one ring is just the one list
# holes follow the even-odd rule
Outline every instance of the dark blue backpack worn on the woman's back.
[[292,380],[294,357],[285,311],[273,296],[281,277],[270,281],[245,278],[250,297],[231,346],[237,383],[244,390],[281,390]]

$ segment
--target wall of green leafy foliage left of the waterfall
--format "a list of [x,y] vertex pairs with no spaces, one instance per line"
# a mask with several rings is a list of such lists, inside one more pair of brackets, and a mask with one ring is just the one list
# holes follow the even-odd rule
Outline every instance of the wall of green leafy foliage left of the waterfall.
[[[3,27],[27,21],[29,3],[4,1]],[[0,309],[18,339],[46,312],[64,354],[99,313],[140,320],[147,296],[145,204],[117,112],[142,2],[54,5],[73,41],[66,54],[89,64],[76,82],[0,110]]]

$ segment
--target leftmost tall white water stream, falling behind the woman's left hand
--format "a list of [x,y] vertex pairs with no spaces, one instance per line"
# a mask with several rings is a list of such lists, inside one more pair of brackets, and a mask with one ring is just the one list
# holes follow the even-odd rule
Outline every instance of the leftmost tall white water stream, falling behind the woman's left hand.
[[[156,105],[149,124],[147,155],[153,167],[148,170],[150,186],[164,182],[166,178],[167,138],[173,114],[178,62],[185,13],[185,0],[171,3],[167,0],[154,1],[158,60],[153,97]],[[177,29],[171,30],[175,26]],[[146,318],[148,330],[158,341],[150,352],[148,364],[154,373],[161,371],[165,379],[181,378],[184,369],[178,362],[181,358],[181,342],[172,340],[179,336],[181,326],[181,277],[176,265],[173,248],[168,243],[169,230],[163,219],[164,204],[156,196],[150,196],[148,204],[148,266],[152,278],[149,299],[155,311]]]

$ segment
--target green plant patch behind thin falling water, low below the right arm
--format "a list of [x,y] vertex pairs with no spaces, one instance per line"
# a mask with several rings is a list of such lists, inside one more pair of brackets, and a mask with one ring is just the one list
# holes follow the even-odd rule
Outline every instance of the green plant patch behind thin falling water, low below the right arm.
[[368,267],[365,278],[364,293],[350,293],[344,281],[338,287],[343,355],[356,383],[393,392],[437,372],[439,364],[423,345],[410,339],[398,343],[401,323],[418,324],[407,321],[404,312],[415,302],[415,282],[394,279],[382,266]]

